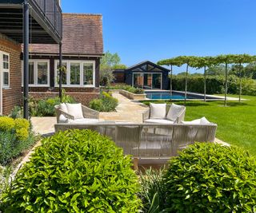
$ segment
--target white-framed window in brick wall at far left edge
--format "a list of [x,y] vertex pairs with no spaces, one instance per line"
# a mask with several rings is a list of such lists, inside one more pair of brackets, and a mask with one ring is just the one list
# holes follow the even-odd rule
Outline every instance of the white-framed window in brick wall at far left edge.
[[1,52],[2,61],[2,87],[10,87],[10,54]]

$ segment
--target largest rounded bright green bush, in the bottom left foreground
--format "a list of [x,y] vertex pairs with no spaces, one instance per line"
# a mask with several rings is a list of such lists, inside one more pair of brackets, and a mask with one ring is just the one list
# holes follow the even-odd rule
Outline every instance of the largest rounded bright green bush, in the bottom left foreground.
[[138,178],[130,156],[90,130],[42,141],[2,193],[5,212],[137,212]]

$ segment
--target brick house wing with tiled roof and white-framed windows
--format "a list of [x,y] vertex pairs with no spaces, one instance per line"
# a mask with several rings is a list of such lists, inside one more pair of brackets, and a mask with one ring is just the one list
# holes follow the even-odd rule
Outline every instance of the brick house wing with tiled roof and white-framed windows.
[[[102,15],[62,14],[62,88],[88,105],[99,96],[99,65],[103,54]],[[58,45],[30,45],[30,97],[58,96]]]

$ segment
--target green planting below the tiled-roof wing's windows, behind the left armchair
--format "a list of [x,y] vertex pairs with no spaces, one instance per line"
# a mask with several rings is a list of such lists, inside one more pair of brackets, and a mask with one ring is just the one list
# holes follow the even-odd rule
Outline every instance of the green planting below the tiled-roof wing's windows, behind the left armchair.
[[[70,96],[63,96],[62,101],[65,103],[74,103],[74,99]],[[54,105],[59,105],[58,97],[48,98],[46,100],[35,101],[30,99],[31,116],[55,116]]]

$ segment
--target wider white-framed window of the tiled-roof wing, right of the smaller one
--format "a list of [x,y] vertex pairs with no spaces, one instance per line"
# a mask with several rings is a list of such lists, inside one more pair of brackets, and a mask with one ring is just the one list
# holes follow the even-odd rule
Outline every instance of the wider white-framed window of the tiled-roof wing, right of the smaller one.
[[[94,87],[95,61],[62,61],[66,71],[62,73],[62,85],[66,87]],[[58,85],[59,61],[55,61],[55,86]]]

